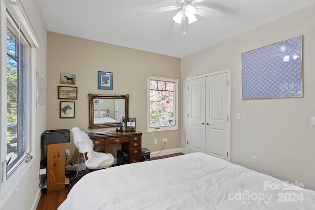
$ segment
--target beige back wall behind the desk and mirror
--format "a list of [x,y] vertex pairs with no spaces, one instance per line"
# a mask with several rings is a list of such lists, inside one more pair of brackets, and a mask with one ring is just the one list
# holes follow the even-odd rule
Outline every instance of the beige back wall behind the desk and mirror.
[[[106,35],[106,34],[104,34]],[[113,72],[113,90],[97,89],[97,72]],[[60,74],[76,75],[78,99],[75,102],[75,118],[60,119],[57,88]],[[181,77],[181,60],[154,53],[119,47],[87,39],[48,32],[47,35],[47,130],[71,129],[78,126],[84,131],[89,125],[88,93],[129,94],[129,117],[136,118],[136,129],[143,132],[142,148],[159,151],[162,139],[167,138],[165,150],[180,147],[180,129],[165,132],[147,132],[147,76]],[[180,126],[179,126],[180,128]],[[107,130],[115,130],[109,128]],[[158,144],[154,144],[158,139]],[[71,139],[66,144],[70,156],[77,157]],[[116,156],[115,146],[108,146],[106,152]],[[75,152],[75,153],[74,153]]]

